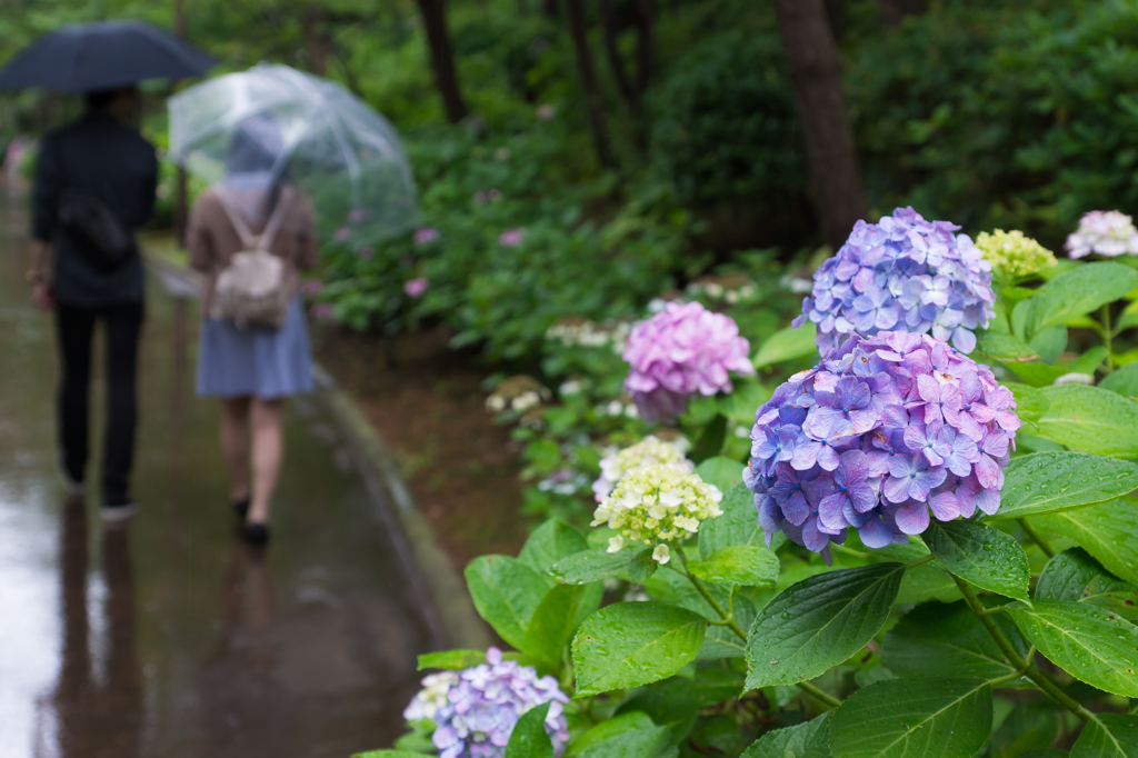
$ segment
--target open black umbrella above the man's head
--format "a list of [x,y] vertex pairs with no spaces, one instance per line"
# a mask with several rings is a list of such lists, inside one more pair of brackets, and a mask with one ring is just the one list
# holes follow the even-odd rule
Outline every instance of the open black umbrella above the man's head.
[[0,89],[93,92],[145,79],[201,76],[213,65],[206,53],[150,24],[77,24],[22,50],[0,73]]

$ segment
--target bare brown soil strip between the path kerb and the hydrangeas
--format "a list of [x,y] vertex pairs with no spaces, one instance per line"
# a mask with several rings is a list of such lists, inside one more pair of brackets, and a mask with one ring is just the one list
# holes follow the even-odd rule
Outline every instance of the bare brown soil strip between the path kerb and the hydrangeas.
[[318,361],[348,390],[399,471],[453,566],[516,554],[526,539],[521,461],[508,427],[486,412],[485,373],[435,330],[391,338],[315,329]]

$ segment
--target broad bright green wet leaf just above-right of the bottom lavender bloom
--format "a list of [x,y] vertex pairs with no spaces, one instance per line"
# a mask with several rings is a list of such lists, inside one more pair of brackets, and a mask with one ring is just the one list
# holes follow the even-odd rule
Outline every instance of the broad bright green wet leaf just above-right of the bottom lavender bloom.
[[572,641],[576,697],[650,684],[695,660],[707,619],[658,602],[616,603],[582,624]]

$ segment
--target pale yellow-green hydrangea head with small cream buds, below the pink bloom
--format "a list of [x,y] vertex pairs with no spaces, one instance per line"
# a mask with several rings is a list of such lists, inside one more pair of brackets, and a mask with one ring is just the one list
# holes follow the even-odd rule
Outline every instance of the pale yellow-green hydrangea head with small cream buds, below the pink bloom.
[[700,522],[723,514],[723,493],[681,463],[644,465],[627,471],[593,512],[593,526],[609,526],[619,534],[609,552],[626,545],[655,545],[652,558],[671,560],[667,543],[683,542],[699,532]]

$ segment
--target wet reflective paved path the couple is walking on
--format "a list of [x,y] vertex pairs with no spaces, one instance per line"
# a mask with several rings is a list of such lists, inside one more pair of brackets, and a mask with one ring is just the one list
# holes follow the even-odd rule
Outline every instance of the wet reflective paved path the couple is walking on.
[[345,758],[390,745],[431,636],[380,504],[319,405],[291,405],[273,543],[250,550],[233,535],[217,409],[193,396],[196,307],[151,278],[141,513],[104,530],[96,500],[68,502],[58,483],[52,324],[27,303],[20,206],[0,198],[0,756]]

